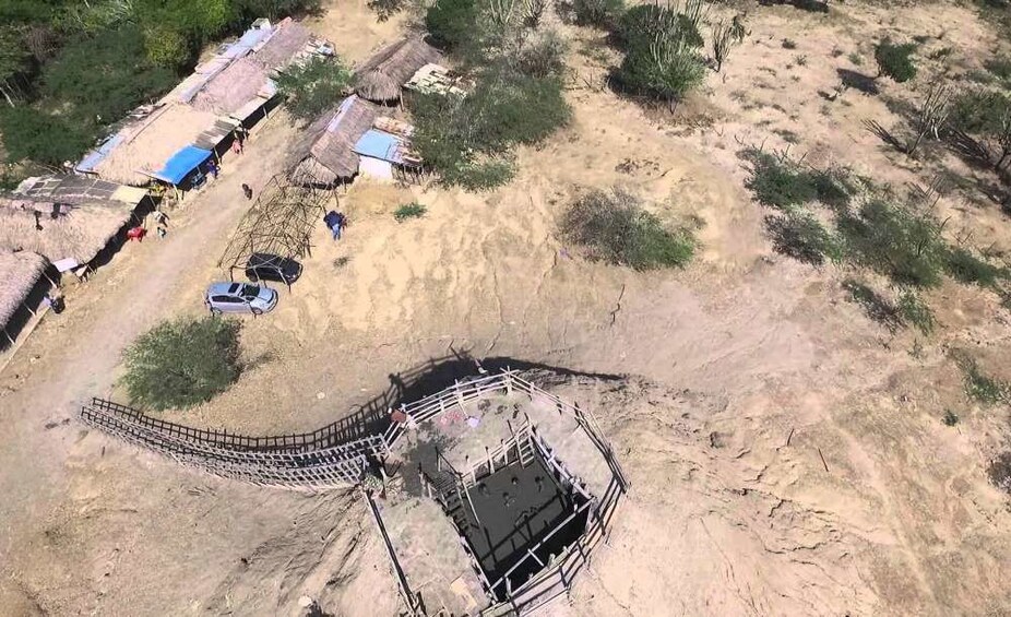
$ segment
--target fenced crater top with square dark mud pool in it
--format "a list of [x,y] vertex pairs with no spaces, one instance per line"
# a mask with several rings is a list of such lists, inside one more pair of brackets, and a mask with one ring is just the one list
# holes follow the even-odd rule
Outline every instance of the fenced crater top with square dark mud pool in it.
[[391,417],[399,471],[370,501],[414,614],[526,615],[571,592],[628,490],[588,410],[503,370]]

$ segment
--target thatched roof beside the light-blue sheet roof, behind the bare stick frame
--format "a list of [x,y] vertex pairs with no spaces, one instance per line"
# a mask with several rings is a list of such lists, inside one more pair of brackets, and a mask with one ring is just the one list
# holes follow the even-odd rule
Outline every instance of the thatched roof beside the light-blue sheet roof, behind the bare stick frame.
[[357,96],[345,98],[333,111],[318,118],[292,150],[293,177],[310,174],[330,185],[358,173],[355,144],[372,128],[379,107]]

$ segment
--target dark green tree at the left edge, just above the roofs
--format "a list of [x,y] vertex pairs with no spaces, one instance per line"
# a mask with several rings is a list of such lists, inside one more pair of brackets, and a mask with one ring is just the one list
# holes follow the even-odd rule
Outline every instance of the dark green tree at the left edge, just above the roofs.
[[9,161],[52,166],[78,161],[95,141],[90,129],[27,106],[0,111],[0,135]]

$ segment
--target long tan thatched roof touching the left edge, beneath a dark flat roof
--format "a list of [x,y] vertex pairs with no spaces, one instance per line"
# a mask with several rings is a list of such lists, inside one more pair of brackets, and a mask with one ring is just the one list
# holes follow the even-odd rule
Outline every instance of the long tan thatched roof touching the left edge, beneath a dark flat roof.
[[114,202],[60,206],[0,198],[0,250],[87,263],[132,216],[132,207]]

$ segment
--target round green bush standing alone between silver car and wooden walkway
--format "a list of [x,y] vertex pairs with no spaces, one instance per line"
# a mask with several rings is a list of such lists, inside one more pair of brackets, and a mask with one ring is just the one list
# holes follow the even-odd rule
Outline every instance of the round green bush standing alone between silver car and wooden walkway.
[[239,322],[215,317],[164,322],[126,351],[130,398],[155,410],[210,401],[239,378]]

